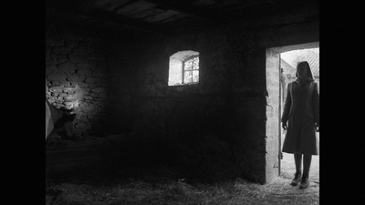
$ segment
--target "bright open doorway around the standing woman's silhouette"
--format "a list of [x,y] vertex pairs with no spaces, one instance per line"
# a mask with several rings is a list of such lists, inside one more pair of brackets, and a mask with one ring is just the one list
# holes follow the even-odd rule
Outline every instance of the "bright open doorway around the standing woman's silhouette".
[[[267,66],[268,60],[276,62],[276,66],[271,68]],[[300,61],[308,61],[313,77],[315,77],[315,80],[319,85],[319,42],[293,46],[271,47],[266,51],[266,78],[273,76],[278,77],[278,82],[276,81],[277,83],[267,85],[267,88],[271,90],[278,90],[278,92],[271,92],[271,94],[278,93],[278,96],[274,95],[277,96],[278,100],[271,100],[271,102],[272,106],[277,108],[277,121],[275,121],[278,122],[278,175],[285,179],[293,179],[296,168],[293,154],[281,151],[286,131],[281,128],[280,120],[285,105],[285,97],[287,96],[287,84],[297,78],[297,63]],[[277,86],[278,88],[276,88]],[[317,136],[319,140],[318,132]],[[319,183],[319,155],[312,157],[312,163],[309,170],[309,180],[311,182]]]

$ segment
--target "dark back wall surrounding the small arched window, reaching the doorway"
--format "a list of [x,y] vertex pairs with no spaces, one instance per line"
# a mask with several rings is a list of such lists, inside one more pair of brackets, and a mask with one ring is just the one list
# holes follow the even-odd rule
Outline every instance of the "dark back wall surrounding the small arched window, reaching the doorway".
[[[232,154],[246,179],[275,179],[278,121],[267,119],[278,118],[272,103],[278,89],[268,92],[266,82],[274,82],[277,75],[266,76],[266,48],[318,41],[317,15],[316,10],[303,10],[146,38],[134,53],[138,60],[131,74],[133,86],[126,90],[132,127],[189,149],[203,149],[214,141],[209,149]],[[200,82],[168,87],[169,57],[182,50],[200,53]]]

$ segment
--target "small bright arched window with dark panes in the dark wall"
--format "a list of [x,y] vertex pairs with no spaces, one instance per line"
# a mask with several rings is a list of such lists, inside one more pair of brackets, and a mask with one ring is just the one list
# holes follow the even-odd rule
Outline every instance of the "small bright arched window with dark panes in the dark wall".
[[169,86],[199,83],[199,52],[179,51],[170,56]]

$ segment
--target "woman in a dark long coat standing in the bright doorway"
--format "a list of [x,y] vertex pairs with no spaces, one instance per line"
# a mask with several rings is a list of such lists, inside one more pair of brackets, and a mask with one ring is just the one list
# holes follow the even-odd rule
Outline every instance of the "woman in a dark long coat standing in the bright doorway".
[[[318,155],[316,131],[319,130],[319,92],[307,61],[297,64],[297,80],[287,85],[282,127],[287,130],[283,152],[294,154],[296,173],[291,185],[300,189],[309,185],[312,155]],[[302,175],[303,158],[303,175]]]

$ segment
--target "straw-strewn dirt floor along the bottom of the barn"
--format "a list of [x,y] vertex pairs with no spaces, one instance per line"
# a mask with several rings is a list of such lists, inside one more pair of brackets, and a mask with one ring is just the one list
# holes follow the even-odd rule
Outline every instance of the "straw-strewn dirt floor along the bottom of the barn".
[[166,168],[139,172],[139,178],[120,172],[120,177],[84,173],[47,180],[46,204],[319,204],[318,183],[299,190],[289,185],[291,179],[284,178],[266,185],[240,178],[200,183],[181,179]]

